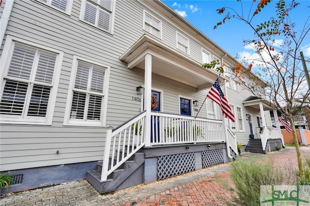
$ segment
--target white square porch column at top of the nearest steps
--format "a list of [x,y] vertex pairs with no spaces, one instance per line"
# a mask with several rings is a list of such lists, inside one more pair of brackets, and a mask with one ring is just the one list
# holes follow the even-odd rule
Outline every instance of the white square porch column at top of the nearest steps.
[[145,146],[151,146],[151,93],[152,93],[152,55],[145,55],[144,70],[144,108],[146,110],[144,122]]

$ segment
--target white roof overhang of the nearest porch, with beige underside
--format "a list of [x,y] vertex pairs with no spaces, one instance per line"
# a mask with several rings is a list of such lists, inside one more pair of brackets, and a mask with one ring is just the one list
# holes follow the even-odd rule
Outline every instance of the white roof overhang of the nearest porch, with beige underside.
[[[144,34],[133,44],[120,59],[127,62],[127,68],[138,67],[144,69],[145,55],[152,55],[152,73],[166,76],[186,85],[203,90],[211,88],[218,73],[210,69],[204,69],[201,64],[191,59],[186,54],[161,43],[160,41]],[[221,85],[229,81],[220,76]]]

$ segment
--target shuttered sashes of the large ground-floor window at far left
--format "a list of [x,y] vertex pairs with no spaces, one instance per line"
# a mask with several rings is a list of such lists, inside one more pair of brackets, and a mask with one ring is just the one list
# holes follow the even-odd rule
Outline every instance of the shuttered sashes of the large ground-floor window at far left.
[[47,117],[57,55],[15,44],[4,76],[0,100],[1,117],[41,119]]

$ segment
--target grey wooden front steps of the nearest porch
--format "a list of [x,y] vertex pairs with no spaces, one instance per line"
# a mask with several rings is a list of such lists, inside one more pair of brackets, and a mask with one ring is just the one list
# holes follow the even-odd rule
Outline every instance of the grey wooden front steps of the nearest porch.
[[86,179],[99,193],[122,190],[143,183],[144,162],[144,153],[136,153],[112,172],[106,181],[101,181],[102,161],[99,161],[96,170],[87,172]]

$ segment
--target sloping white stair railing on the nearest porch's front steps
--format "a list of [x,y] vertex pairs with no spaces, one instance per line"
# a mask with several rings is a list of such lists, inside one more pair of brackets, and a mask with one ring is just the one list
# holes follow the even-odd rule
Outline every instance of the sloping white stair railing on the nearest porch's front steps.
[[107,129],[101,181],[107,180],[109,174],[145,145],[143,137],[145,115],[146,112],[143,111],[123,125],[113,130]]

